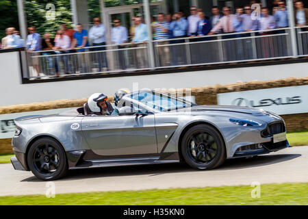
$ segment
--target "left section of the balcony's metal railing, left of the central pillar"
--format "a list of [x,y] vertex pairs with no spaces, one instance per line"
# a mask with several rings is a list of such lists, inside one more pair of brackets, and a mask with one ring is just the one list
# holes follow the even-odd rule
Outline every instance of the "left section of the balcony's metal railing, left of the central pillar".
[[148,70],[146,44],[120,44],[29,53],[29,78]]

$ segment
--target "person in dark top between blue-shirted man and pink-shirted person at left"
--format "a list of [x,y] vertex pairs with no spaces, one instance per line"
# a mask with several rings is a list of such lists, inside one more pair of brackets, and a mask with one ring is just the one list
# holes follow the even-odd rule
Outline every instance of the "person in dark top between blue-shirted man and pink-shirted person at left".
[[[56,53],[53,50],[53,47],[55,47],[55,39],[51,38],[50,34],[44,34],[44,38],[42,39],[42,55],[47,55],[47,60],[48,60],[48,66],[49,69],[44,69],[44,74],[45,75],[51,75],[51,71],[55,70],[55,73],[59,73],[59,68],[57,66],[57,58],[55,56],[50,56],[50,55],[55,55]],[[53,72],[54,74],[54,72]]]

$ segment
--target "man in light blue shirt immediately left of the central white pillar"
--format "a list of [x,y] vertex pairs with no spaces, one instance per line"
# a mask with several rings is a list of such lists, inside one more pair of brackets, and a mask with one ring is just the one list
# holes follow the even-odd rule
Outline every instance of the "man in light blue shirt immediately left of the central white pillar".
[[[146,46],[146,41],[149,40],[147,27],[144,23],[142,23],[142,18],[136,17],[136,28],[135,28],[135,36],[131,41],[132,44],[138,43],[137,47]],[[139,68],[146,68],[146,49],[136,49],[136,57]]]

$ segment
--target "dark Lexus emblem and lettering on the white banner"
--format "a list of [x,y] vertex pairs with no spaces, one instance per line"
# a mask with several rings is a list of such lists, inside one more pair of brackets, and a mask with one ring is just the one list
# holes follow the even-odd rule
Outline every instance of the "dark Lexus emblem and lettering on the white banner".
[[269,107],[271,105],[290,105],[302,103],[300,96],[279,97],[277,99],[261,99],[260,101],[250,101],[244,98],[237,98],[232,101],[232,105],[241,107]]

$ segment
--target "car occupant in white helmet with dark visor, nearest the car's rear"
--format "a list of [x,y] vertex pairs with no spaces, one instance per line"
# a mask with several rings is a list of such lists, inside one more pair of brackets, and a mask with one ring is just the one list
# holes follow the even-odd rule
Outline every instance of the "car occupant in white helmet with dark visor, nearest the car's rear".
[[107,103],[108,96],[101,93],[92,94],[88,99],[88,108],[90,114],[96,114],[98,116],[105,116],[112,114],[114,111],[112,105]]

